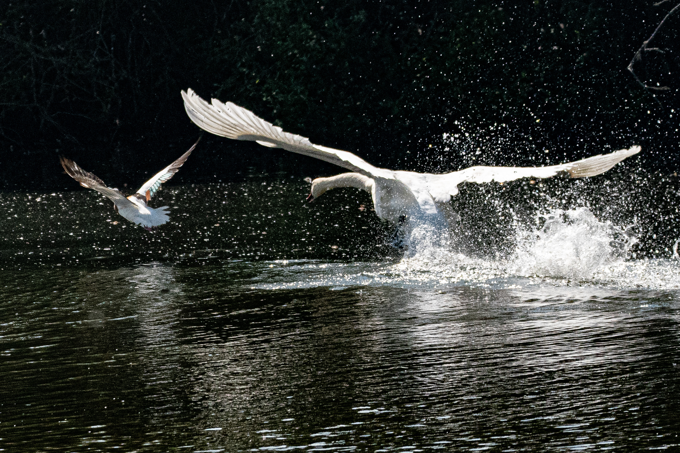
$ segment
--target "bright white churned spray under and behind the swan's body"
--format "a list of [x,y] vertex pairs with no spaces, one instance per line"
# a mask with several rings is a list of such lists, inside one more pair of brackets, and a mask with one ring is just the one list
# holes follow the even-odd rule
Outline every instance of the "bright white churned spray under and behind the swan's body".
[[553,209],[534,223],[515,221],[509,255],[469,257],[454,251],[457,238],[423,223],[409,236],[411,253],[390,270],[403,281],[441,285],[484,283],[680,287],[680,266],[669,259],[631,260],[635,225],[600,221],[585,207]]

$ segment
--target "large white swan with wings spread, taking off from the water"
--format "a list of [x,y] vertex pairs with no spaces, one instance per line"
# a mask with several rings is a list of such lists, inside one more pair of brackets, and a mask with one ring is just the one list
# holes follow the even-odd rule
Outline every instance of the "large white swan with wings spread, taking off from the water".
[[311,201],[335,187],[357,187],[371,194],[376,215],[381,220],[393,223],[403,223],[404,216],[447,211],[451,197],[458,194],[458,184],[464,181],[505,182],[524,177],[548,178],[559,174],[572,178],[594,176],[640,151],[639,146],[634,146],[576,162],[543,167],[473,166],[443,175],[395,171],[377,168],[347,151],[314,145],[309,139],[284,132],[282,128],[233,103],[225,104],[213,99],[209,104],[191,89],[182,91],[182,98],[192,122],[212,134],[256,141],[260,145],[283,148],[352,170],[353,173],[314,179],[307,199]]

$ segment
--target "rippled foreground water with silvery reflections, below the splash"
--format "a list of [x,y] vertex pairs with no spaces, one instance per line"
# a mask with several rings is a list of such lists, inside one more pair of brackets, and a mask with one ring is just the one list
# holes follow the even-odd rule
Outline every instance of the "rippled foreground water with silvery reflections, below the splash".
[[675,291],[248,291],[242,271],[5,271],[2,448],[677,444]]

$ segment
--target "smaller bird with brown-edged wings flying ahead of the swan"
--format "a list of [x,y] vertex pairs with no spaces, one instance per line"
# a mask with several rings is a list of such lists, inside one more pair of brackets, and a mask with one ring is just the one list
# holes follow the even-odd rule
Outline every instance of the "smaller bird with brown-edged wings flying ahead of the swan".
[[104,181],[94,174],[88,173],[80,168],[73,160],[63,156],[59,156],[59,160],[61,161],[64,170],[66,170],[66,173],[75,179],[75,181],[78,181],[80,185],[87,187],[88,189],[94,189],[114,202],[114,209],[118,214],[133,223],[143,226],[146,230],[151,230],[153,227],[163,225],[163,223],[168,221],[168,213],[165,211],[165,209],[168,209],[168,206],[154,209],[148,206],[146,202],[151,200],[151,197],[158,192],[162,183],[165,183],[165,181],[173,177],[175,173],[177,173],[177,170],[184,165],[184,162],[186,162],[191,151],[199,144],[200,140],[201,137],[199,137],[196,143],[194,143],[186,153],[182,154],[179,159],[156,173],[154,177],[139,187],[137,193],[129,197],[124,196],[118,189],[106,187]]

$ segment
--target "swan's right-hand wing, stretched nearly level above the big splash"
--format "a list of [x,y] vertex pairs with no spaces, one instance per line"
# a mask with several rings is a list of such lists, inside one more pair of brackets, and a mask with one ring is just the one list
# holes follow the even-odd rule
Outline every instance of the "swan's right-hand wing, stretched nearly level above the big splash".
[[494,167],[473,166],[464,170],[446,173],[445,175],[429,175],[428,187],[430,194],[437,201],[447,201],[449,196],[458,194],[458,184],[468,181],[471,183],[488,183],[497,181],[513,181],[520,178],[549,178],[564,175],[571,178],[583,178],[605,173],[622,160],[640,152],[639,146],[620,149],[609,154],[600,154],[566,164],[543,167]]

